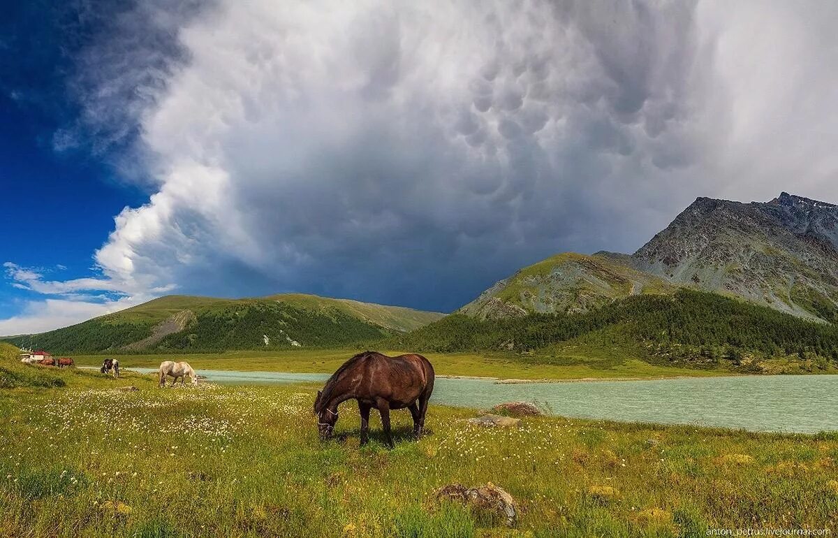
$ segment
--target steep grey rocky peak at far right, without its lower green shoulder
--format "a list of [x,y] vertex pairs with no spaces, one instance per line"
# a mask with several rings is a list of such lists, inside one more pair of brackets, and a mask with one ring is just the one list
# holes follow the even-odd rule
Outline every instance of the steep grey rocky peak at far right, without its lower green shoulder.
[[632,256],[668,282],[803,317],[838,317],[838,205],[783,192],[742,204],[699,198]]

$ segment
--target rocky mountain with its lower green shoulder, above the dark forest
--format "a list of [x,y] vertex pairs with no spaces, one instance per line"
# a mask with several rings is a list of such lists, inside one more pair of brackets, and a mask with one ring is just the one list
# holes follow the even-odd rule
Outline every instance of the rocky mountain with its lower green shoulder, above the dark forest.
[[633,255],[551,256],[458,310],[483,319],[583,313],[681,288],[799,318],[838,319],[838,205],[782,193],[742,204],[699,198]]

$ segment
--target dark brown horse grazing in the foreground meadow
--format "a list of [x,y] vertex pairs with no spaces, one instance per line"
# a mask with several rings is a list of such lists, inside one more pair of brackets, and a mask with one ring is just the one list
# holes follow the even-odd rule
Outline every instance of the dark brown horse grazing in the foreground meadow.
[[314,413],[318,416],[321,439],[332,437],[338,422],[338,406],[357,400],[361,412],[361,444],[368,441],[370,409],[381,415],[381,426],[387,445],[393,448],[390,434],[390,410],[404,409],[413,416],[413,433],[422,435],[425,427],[427,401],[433,392],[433,366],[422,355],[404,354],[388,357],[376,351],[365,351],[347,360],[318,391]]

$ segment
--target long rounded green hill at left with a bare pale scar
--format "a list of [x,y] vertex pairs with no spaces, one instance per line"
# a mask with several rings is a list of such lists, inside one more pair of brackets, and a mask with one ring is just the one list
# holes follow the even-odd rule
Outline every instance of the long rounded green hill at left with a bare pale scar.
[[380,339],[442,316],[303,294],[245,299],[172,295],[7,341],[63,354],[290,349]]

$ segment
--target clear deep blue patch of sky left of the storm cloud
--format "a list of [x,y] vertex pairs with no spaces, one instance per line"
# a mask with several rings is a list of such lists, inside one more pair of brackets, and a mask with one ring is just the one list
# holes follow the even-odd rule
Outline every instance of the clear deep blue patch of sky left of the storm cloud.
[[[92,20],[80,23],[80,12],[69,4],[51,4],[3,3],[0,227],[5,233],[0,257],[49,280],[70,280],[98,272],[91,253],[113,227],[114,215],[127,205],[142,204],[147,193],[118,177],[108,153],[56,143],[80,114],[68,89],[75,54],[84,35],[101,28]],[[8,279],[0,286],[0,319],[44,300],[43,294],[15,283]],[[35,327],[40,328],[38,323]]]

